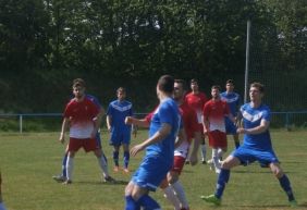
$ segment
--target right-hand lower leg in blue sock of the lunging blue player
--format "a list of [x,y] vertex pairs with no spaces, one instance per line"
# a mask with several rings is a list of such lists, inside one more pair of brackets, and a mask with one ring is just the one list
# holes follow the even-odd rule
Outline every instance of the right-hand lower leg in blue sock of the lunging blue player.
[[291,206],[297,206],[296,200],[294,198],[294,194],[291,187],[290,180],[287,175],[283,172],[280,164],[278,162],[272,162],[269,164],[272,173],[279,180],[281,187],[287,195],[287,199]]

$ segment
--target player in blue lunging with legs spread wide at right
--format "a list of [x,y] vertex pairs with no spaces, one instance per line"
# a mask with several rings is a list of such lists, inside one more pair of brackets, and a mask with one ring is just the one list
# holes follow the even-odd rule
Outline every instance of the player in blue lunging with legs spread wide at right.
[[279,164],[279,160],[273,151],[269,125],[271,112],[268,106],[262,103],[265,87],[260,83],[253,83],[249,87],[250,102],[241,107],[240,116],[243,118],[243,127],[237,128],[237,133],[244,134],[243,145],[234,150],[223,162],[222,170],[217,182],[216,193],[210,196],[201,196],[207,202],[221,205],[222,195],[230,178],[230,170],[240,164],[248,164],[259,161],[267,164],[281,187],[286,193],[291,207],[296,207],[296,200],[290,184],[290,180],[284,174]]

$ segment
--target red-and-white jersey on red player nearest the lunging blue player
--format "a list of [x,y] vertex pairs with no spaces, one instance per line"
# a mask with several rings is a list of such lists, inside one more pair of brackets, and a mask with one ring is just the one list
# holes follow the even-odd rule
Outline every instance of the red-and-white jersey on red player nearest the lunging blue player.
[[230,108],[225,101],[209,100],[204,107],[204,118],[209,120],[209,131],[225,132],[224,116],[230,113]]

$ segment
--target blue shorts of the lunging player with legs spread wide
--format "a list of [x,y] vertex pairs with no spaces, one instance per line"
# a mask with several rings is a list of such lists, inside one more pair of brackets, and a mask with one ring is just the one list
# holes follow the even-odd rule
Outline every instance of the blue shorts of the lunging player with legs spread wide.
[[246,148],[244,146],[234,150],[231,156],[237,158],[242,164],[246,165],[251,162],[258,161],[260,165],[269,165],[270,163],[279,163],[279,159],[273,150],[256,150]]

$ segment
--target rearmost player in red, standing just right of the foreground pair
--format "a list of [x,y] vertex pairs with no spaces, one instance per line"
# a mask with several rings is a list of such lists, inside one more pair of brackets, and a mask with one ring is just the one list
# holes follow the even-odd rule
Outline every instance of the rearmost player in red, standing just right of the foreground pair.
[[[202,131],[202,109],[205,103],[208,101],[207,96],[205,92],[199,90],[198,81],[196,78],[191,79],[191,89],[192,91],[186,95],[185,99],[188,106],[191,106],[196,114],[198,120],[198,126],[199,129]],[[205,135],[201,132],[201,162],[202,164],[206,164],[206,141],[205,141]],[[187,160],[187,163],[189,161]]]

